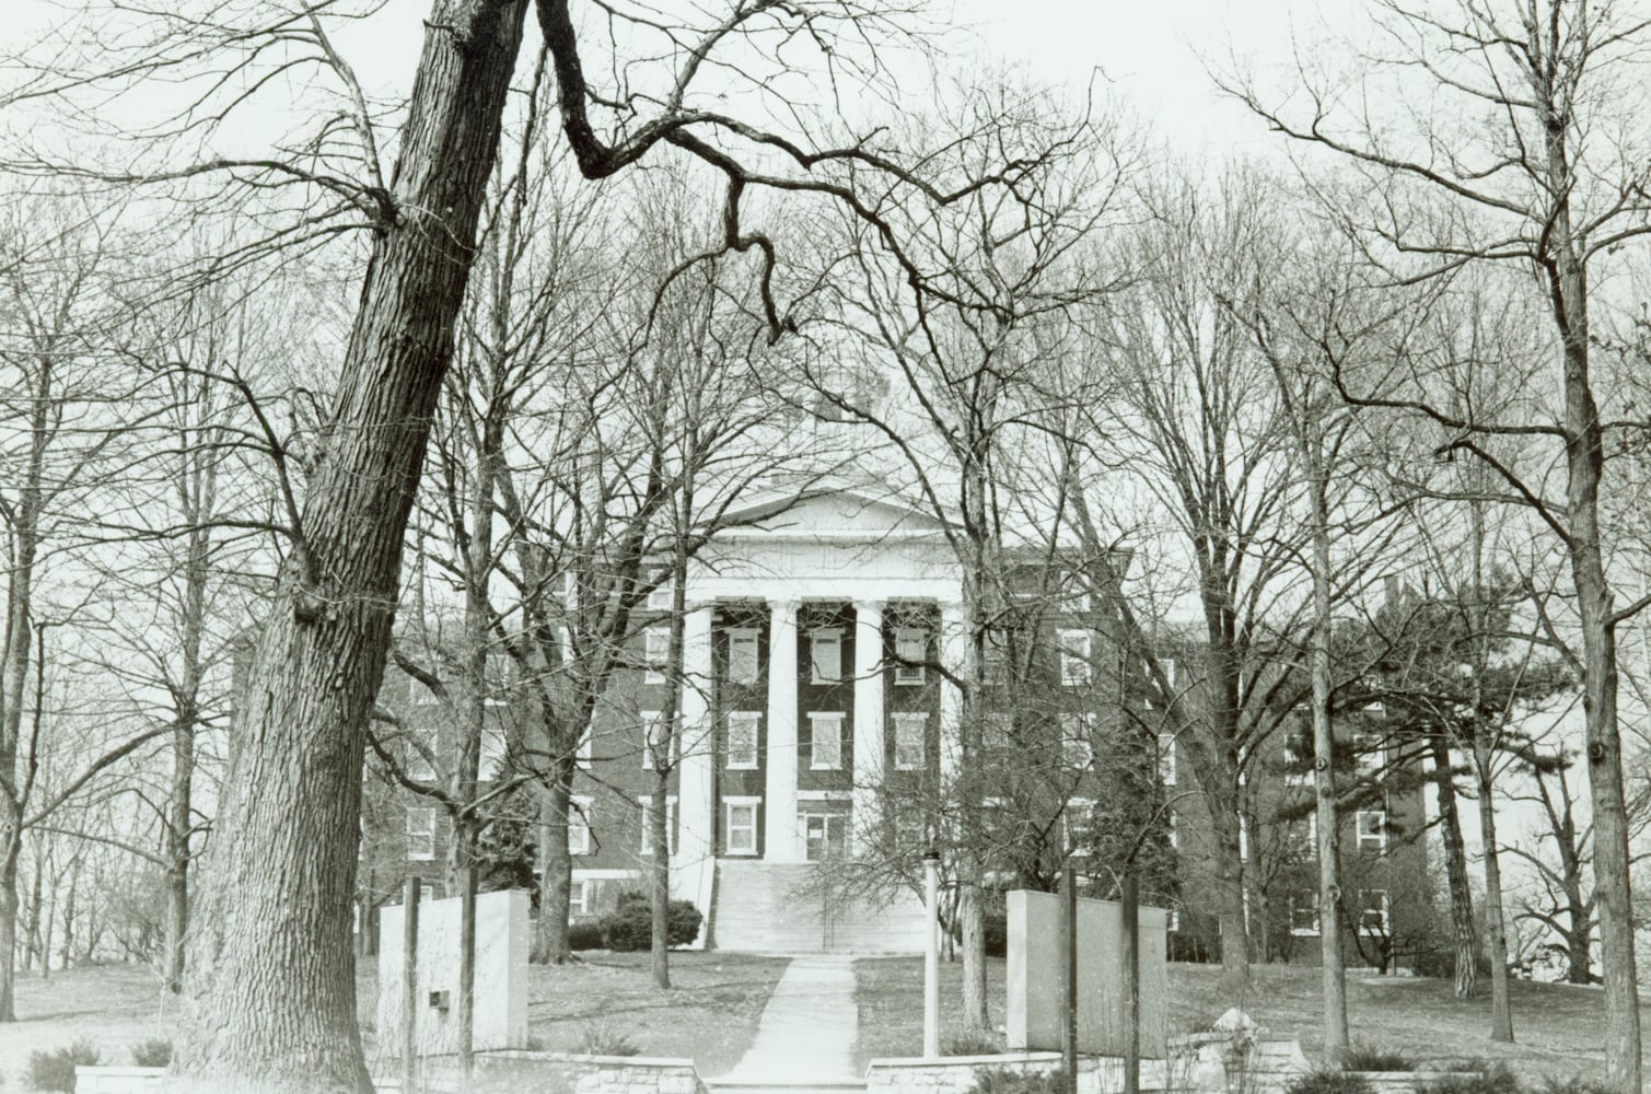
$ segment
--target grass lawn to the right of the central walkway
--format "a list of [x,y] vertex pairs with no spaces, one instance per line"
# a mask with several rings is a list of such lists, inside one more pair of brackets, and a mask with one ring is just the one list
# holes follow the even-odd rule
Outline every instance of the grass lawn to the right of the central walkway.
[[[865,959],[854,965],[859,980],[860,1040],[855,1066],[877,1056],[916,1056],[923,1048],[923,960],[920,957]],[[1322,1048],[1319,1028],[1319,970],[1289,965],[1256,965],[1247,1000],[1222,998],[1217,965],[1171,965],[1171,1033],[1207,1025],[1232,1005],[1240,1005],[1263,1028],[1296,1035],[1308,1058]],[[959,987],[963,967],[941,965],[941,1048],[963,1030]],[[1050,990],[1057,990],[1050,985]],[[1004,1021],[1004,962],[987,962],[991,1021]],[[1504,1061],[1516,1074],[1540,1079],[1549,1074],[1603,1079],[1605,998],[1598,988],[1565,983],[1512,985],[1517,1044],[1493,1044],[1491,1002],[1459,1002],[1448,980],[1349,974],[1347,1007],[1352,1040],[1405,1053],[1422,1066],[1488,1058]],[[1651,1015],[1641,1018],[1651,1020]],[[1651,1025],[1648,1025],[1651,1028]],[[1651,1066],[1651,1061],[1648,1061]]]

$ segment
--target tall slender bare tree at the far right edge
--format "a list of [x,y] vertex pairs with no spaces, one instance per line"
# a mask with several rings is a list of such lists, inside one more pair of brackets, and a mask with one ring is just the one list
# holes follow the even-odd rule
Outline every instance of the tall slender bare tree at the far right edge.
[[[1608,1076],[1618,1089],[1638,1094],[1616,627],[1644,604],[1618,606],[1605,568],[1610,530],[1600,521],[1600,487],[1613,447],[1608,437],[1625,422],[1601,413],[1592,373],[1590,312],[1600,300],[1590,277],[1597,281],[1610,254],[1648,229],[1644,155],[1633,130],[1615,125],[1610,114],[1613,91],[1626,79],[1648,26],[1615,3],[1463,0],[1435,8],[1388,0],[1379,8],[1379,30],[1385,50],[1365,58],[1364,94],[1390,96],[1390,102],[1426,96],[1428,109],[1408,116],[1422,122],[1375,120],[1357,96],[1341,94],[1313,73],[1301,73],[1304,87],[1288,101],[1243,81],[1228,81],[1228,89],[1278,132],[1362,175],[1372,200],[1346,208],[1344,223],[1395,281],[1448,277],[1469,264],[1537,276],[1524,284],[1540,292],[1557,342],[1559,416],[1483,416],[1471,404],[1441,404],[1415,375],[1387,376],[1385,393],[1347,376],[1344,394],[1433,422],[1440,450],[1484,460],[1565,549],[1580,639],[1580,648],[1565,648],[1585,690],[1597,825]],[[1402,380],[1410,380],[1408,391],[1395,398]],[[1494,437],[1552,444],[1562,454],[1562,487],[1511,474],[1486,447]],[[1562,502],[1549,498],[1554,487]]]

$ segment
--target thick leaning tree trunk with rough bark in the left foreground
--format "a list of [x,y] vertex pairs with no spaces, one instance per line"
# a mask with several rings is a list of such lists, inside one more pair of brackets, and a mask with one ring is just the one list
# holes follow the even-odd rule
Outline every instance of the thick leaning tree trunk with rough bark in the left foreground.
[[175,1063],[201,1086],[371,1091],[350,954],[362,756],[523,13],[438,0],[426,23],[396,213],[241,695]]

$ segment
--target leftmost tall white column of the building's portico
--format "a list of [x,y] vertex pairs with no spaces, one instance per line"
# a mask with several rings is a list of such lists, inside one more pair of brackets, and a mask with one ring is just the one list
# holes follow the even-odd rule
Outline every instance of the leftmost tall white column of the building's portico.
[[717,734],[712,698],[712,606],[688,609],[682,620],[682,761],[677,767],[677,853],[672,894],[710,914],[717,848]]

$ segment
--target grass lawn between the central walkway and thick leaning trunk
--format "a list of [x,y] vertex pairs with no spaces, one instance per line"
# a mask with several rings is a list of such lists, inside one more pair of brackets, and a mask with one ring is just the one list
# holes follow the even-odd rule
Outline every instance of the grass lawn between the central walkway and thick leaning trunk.
[[[581,954],[568,965],[528,965],[528,1041],[548,1051],[576,1051],[589,1030],[622,1035],[642,1056],[693,1059],[700,1074],[730,1071],[756,1036],[756,1021],[783,957],[670,955],[669,992],[654,988],[647,954]],[[362,962],[362,1013],[373,1013],[376,978]],[[368,1046],[368,1064],[375,1049]],[[388,1066],[388,1064],[386,1064]]]

